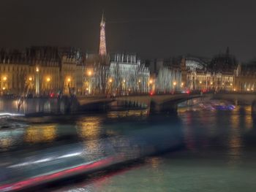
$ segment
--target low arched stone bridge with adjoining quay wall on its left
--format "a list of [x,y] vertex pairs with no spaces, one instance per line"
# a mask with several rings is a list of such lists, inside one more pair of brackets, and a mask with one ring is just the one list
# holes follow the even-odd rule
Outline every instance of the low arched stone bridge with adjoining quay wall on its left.
[[[212,96],[204,95],[204,96]],[[92,112],[105,111],[108,107],[118,106],[121,104],[124,110],[135,109],[138,107],[148,108],[149,114],[161,112],[176,112],[178,103],[187,101],[189,99],[198,98],[198,94],[157,94],[157,95],[130,95],[117,96],[115,98],[108,98],[106,96],[89,96],[78,98],[74,101],[70,99],[26,99],[20,113],[23,114],[67,114],[76,112]],[[215,99],[224,99],[233,101],[235,104],[249,104],[252,105],[252,115],[256,115],[256,93],[217,93],[214,94]],[[0,99],[1,112],[18,112],[17,99]]]

